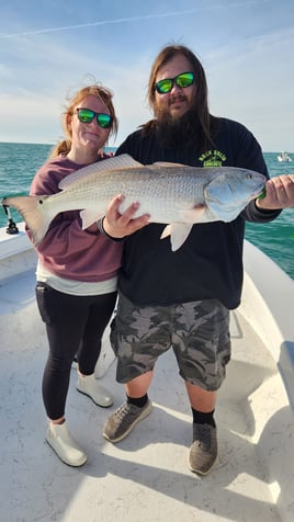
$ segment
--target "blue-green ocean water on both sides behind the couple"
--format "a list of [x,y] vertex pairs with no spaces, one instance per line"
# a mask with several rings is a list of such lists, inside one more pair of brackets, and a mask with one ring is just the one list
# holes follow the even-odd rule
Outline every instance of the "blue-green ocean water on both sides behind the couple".
[[[35,172],[47,159],[50,149],[52,145],[0,143],[0,198],[27,194]],[[294,154],[290,152],[293,161],[285,163],[278,161],[279,152],[264,152],[270,175],[294,173]],[[11,214],[14,222],[21,220],[14,209],[11,209]],[[0,227],[5,227],[7,222],[4,211],[0,208]],[[246,238],[294,280],[294,208],[284,209],[276,219],[268,224],[248,223]]]

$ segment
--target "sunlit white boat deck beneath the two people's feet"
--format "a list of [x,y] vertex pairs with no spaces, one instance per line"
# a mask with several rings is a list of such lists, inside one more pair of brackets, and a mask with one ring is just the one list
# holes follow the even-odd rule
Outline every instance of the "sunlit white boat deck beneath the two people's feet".
[[293,488],[279,466],[276,474],[267,467],[269,454],[279,458],[281,446],[290,451],[293,415],[276,363],[240,314],[231,315],[233,361],[216,408],[219,455],[208,476],[201,478],[186,465],[191,410],[171,351],[156,366],[151,415],[116,445],[101,434],[124,400],[115,362],[100,377],[115,398],[110,409],[76,390],[72,368],[66,416],[89,458],[72,468],[44,438],[47,342],[32,290],[27,293],[33,287],[32,270],[0,288],[2,522],[294,520],[294,498],[282,519],[276,510],[276,502],[291,506]]

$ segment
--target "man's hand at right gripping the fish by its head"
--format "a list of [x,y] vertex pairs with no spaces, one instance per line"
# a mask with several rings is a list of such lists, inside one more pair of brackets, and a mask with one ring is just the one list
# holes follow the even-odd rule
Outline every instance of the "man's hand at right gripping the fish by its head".
[[268,180],[265,196],[257,198],[256,205],[268,211],[294,206],[294,174],[282,174]]

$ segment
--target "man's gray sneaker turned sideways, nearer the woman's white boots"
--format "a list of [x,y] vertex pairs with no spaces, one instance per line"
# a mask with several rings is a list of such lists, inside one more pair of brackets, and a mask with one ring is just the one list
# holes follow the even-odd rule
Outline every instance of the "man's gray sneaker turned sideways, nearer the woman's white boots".
[[122,441],[140,420],[145,419],[152,409],[148,399],[143,408],[124,402],[109,417],[104,424],[103,436],[110,442]]

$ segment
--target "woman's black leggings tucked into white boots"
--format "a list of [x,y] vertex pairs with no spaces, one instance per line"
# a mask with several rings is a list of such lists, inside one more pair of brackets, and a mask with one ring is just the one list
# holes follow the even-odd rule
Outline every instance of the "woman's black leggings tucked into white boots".
[[76,296],[37,283],[36,299],[49,342],[42,384],[43,400],[48,418],[56,420],[65,415],[75,355],[82,374],[94,372],[101,338],[115,306],[116,292]]

